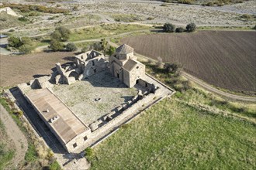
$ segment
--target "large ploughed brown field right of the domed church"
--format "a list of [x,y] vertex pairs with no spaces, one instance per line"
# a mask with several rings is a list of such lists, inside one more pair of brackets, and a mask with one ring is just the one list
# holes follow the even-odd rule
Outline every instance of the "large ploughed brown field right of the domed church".
[[216,87],[255,95],[255,31],[158,33],[121,42],[144,56],[182,63],[185,72]]

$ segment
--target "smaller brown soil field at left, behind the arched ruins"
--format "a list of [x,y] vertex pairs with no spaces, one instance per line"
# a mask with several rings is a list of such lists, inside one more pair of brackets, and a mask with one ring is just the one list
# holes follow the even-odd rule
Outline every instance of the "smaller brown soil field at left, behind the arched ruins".
[[67,63],[74,53],[32,53],[23,56],[0,55],[0,87],[15,86],[33,80],[33,76],[52,73],[55,63]]

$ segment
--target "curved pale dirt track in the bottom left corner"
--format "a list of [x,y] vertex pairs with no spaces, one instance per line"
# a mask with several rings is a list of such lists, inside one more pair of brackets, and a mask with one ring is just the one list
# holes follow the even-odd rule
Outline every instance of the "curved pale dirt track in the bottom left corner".
[[22,131],[20,131],[16,122],[12,120],[11,115],[0,104],[0,118],[5,124],[6,133],[9,138],[12,139],[13,144],[16,147],[15,156],[12,159],[12,167],[17,168],[19,163],[24,161],[25,153],[28,148],[28,141]]

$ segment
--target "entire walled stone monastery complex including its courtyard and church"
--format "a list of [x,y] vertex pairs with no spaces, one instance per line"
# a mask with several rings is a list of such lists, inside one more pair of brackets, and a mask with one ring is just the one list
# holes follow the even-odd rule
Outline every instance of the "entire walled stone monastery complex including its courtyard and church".
[[109,59],[91,50],[74,56],[51,76],[18,85],[26,100],[68,152],[80,152],[174,93],[145,73],[133,48],[119,46]]

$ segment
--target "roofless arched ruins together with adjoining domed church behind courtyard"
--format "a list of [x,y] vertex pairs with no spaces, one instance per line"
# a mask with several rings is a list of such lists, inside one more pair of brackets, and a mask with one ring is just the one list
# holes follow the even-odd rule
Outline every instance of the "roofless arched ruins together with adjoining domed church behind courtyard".
[[55,82],[67,84],[83,80],[103,70],[109,70],[112,76],[116,76],[127,87],[133,87],[145,76],[144,64],[137,61],[137,57],[133,55],[133,48],[126,44],[116,49],[109,57],[109,62],[102,53],[91,50],[75,56],[74,63],[70,66],[63,68],[57,63],[56,68],[58,75],[54,75]]

